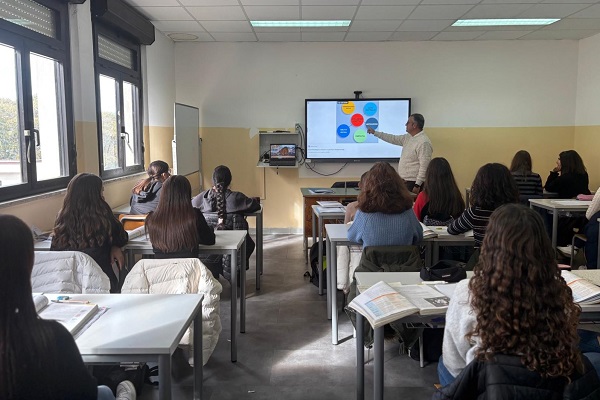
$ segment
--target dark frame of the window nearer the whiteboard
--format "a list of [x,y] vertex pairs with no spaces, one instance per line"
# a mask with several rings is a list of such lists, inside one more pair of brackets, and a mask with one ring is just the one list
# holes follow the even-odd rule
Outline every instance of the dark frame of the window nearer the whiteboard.
[[[98,127],[98,158],[99,158],[99,170],[100,176],[103,179],[107,178],[118,178],[122,176],[128,176],[137,174],[140,172],[144,172],[144,133],[143,133],[143,82],[142,82],[142,56],[141,56],[141,45],[135,43],[133,40],[130,40],[128,37],[124,36],[120,32],[116,31],[114,28],[110,26],[94,20],[92,23],[93,26],[93,36],[94,36],[94,81],[96,88],[96,120]],[[133,69],[124,67],[122,65],[113,63],[109,60],[101,58],[98,51],[98,37],[104,36],[107,39],[110,39],[121,46],[128,48],[133,51],[134,54],[134,66]],[[133,139],[135,150],[134,150],[134,158],[135,164],[131,166],[125,165],[126,156],[124,153],[124,143],[123,141],[118,142],[118,162],[119,166],[115,169],[104,168],[104,143],[102,137],[102,109],[101,109],[101,100],[100,100],[100,75],[109,76],[115,79],[118,82],[117,89],[117,107],[120,112],[121,118],[117,119],[117,131],[121,132],[121,127],[123,125],[124,119],[124,102],[123,102],[123,82],[129,82],[136,86],[137,88],[137,96],[134,100],[135,107],[137,107],[137,121],[134,121],[135,132],[130,133],[130,140]]]

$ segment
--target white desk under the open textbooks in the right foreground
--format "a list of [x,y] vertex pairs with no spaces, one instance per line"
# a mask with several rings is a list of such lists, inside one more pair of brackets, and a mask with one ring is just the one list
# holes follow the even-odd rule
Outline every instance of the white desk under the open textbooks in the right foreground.
[[[594,271],[596,272],[596,271]],[[600,270],[597,270],[600,274]],[[470,278],[472,272],[467,272]],[[357,272],[356,280],[363,285],[375,284],[379,281],[384,282],[402,282],[406,284],[419,283],[418,272]],[[582,305],[580,321],[598,321],[600,320],[600,304]],[[403,322],[427,322],[436,325],[442,325],[445,322],[445,311],[441,314],[421,316],[419,314],[411,315],[401,319]],[[364,317],[356,313],[356,326],[363,325]],[[356,399],[363,400],[365,397],[365,353],[363,350],[363,330],[356,329]],[[383,326],[374,330],[375,343],[373,344],[373,400],[383,400]],[[421,355],[422,359],[422,355]]]

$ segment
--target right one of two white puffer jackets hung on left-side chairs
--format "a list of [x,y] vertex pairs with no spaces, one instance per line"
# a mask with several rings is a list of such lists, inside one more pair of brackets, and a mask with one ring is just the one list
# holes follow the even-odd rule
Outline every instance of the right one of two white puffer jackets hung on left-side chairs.
[[[221,333],[220,294],[223,286],[197,258],[142,259],[129,271],[121,293],[204,295],[202,301],[202,361],[206,364]],[[160,318],[160,315],[148,316]],[[193,346],[192,328],[181,345]]]

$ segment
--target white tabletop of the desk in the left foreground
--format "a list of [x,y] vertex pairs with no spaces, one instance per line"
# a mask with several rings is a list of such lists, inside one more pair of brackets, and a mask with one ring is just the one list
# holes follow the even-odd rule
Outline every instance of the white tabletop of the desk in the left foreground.
[[83,356],[172,354],[200,312],[203,298],[200,294],[69,296],[107,307],[76,340]]

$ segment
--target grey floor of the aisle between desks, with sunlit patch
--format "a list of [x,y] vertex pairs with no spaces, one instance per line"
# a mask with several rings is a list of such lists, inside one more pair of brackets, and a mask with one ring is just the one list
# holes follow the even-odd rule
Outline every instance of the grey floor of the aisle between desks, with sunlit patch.
[[[331,321],[325,296],[303,276],[300,235],[265,236],[264,274],[255,290],[255,262],[247,274],[246,333],[238,334],[238,361],[230,361],[229,283],[221,280],[223,331],[204,366],[203,398],[207,400],[337,400],[356,398],[356,357],[352,325],[340,316],[342,342],[331,344]],[[341,293],[338,292],[341,301]],[[436,364],[398,355],[398,344],[385,345],[385,399],[430,399]],[[369,360],[371,353],[365,353]],[[366,365],[366,399],[372,398],[372,364]],[[174,399],[191,399],[192,381],[175,385]],[[142,400],[158,399],[144,388]]]

